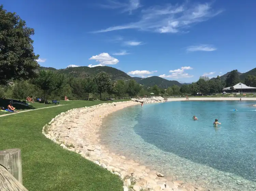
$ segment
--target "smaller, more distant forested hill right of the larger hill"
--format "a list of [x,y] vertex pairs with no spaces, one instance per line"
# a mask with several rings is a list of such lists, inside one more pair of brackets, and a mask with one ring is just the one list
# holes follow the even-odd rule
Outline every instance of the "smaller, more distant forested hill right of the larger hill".
[[172,85],[182,86],[182,84],[177,81],[166,80],[158,76],[143,78],[139,80],[138,83],[146,87],[157,85],[160,88],[167,88]]

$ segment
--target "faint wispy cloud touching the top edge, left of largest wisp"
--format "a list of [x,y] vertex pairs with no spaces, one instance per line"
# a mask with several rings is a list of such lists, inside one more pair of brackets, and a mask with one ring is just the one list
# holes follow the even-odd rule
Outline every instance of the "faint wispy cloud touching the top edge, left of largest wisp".
[[117,0],[107,0],[108,4],[100,4],[102,8],[121,9],[122,13],[128,12],[132,14],[133,11],[141,7],[140,0],[127,0],[126,2],[119,2]]

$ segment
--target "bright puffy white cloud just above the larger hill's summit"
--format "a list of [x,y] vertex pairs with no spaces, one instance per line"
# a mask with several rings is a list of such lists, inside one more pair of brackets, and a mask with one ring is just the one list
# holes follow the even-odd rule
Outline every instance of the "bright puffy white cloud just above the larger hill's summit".
[[119,62],[118,59],[110,56],[108,53],[101,53],[96,56],[92,56],[89,58],[89,60],[96,60],[96,62],[99,62],[98,65],[89,65],[88,67],[95,67],[95,66],[105,66],[105,65],[114,65]]

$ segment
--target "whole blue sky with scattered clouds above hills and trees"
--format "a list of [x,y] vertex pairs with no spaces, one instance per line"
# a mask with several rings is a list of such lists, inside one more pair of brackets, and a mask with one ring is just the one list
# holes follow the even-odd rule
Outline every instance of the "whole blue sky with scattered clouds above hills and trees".
[[256,67],[255,0],[2,0],[41,66],[105,65],[181,82]]

